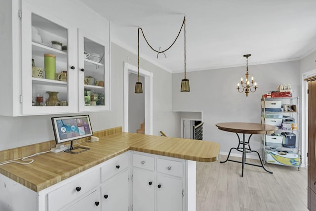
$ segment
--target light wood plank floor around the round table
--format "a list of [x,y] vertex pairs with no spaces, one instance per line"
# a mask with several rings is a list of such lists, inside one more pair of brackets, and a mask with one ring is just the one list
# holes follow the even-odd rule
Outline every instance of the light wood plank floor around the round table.
[[[197,162],[197,211],[308,211],[307,169],[266,164],[264,169],[241,164]],[[241,158],[230,157],[241,161]],[[247,163],[260,164],[247,159]]]

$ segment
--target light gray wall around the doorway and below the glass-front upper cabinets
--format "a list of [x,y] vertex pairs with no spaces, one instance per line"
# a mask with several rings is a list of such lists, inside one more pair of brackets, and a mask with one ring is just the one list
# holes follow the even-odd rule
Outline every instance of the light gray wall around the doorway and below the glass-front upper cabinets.
[[[84,113],[90,115],[94,131],[123,126],[123,61],[127,62],[127,57],[130,57],[128,63],[137,65],[136,55],[112,43],[111,111]],[[178,137],[179,115],[171,112],[171,74],[142,59],[141,64],[142,69],[154,73],[154,134],[158,135],[162,130],[169,136]],[[0,116],[0,150],[54,140],[50,122],[52,116],[60,115]]]

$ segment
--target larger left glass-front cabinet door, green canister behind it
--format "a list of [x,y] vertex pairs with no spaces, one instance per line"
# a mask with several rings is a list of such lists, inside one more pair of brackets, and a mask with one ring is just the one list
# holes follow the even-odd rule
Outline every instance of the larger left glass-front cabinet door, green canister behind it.
[[22,1],[22,114],[78,111],[77,29]]

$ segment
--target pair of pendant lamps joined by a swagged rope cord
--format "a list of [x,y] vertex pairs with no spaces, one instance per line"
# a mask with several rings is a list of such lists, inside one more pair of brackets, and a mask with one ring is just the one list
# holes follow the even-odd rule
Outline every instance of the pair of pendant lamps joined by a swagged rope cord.
[[[183,18],[183,22],[182,22],[182,26],[179,30],[179,33],[176,37],[176,39],[172,42],[172,44],[166,48],[165,50],[161,50],[160,51],[160,47],[159,50],[154,49],[149,42],[147,41],[143,29],[142,28],[138,28],[138,82],[136,82],[135,84],[135,93],[143,93],[143,87],[142,87],[142,83],[139,81],[139,32],[142,33],[145,41],[147,42],[147,44],[150,46],[150,48],[152,48],[152,50],[154,50],[155,52],[159,53],[163,53],[163,55],[166,57],[166,55],[164,54],[165,51],[169,50],[170,47],[176,42],[176,40],[178,39],[180,32],[182,30],[184,26],[184,79],[181,81],[181,91],[183,92],[187,92],[190,91],[190,84],[189,84],[189,79],[186,78],[186,17],[184,16]],[[158,58],[158,54],[157,54],[157,58]],[[167,57],[166,57],[167,58]]]

